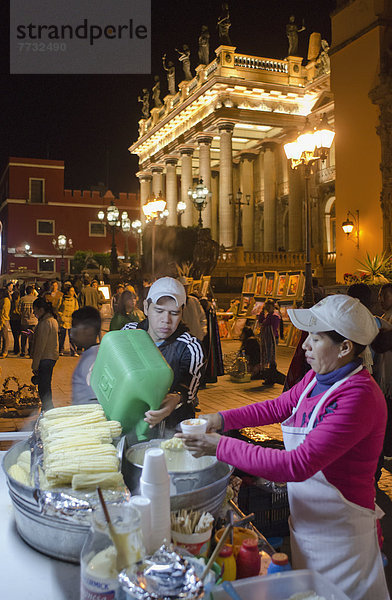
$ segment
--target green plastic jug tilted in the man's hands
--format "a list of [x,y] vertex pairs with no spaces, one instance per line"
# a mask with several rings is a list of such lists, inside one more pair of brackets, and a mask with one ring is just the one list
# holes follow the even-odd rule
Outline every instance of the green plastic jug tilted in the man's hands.
[[161,406],[173,381],[173,371],[143,329],[109,331],[102,338],[91,387],[108,419],[120,421],[123,433],[135,431],[143,440],[147,410]]

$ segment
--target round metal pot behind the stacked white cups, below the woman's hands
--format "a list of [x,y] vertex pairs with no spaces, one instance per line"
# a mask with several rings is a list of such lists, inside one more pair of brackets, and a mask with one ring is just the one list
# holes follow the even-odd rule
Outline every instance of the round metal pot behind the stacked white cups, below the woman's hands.
[[[139,480],[146,450],[160,447],[162,441],[156,439],[141,442],[125,450],[122,472],[132,494],[140,491]],[[195,459],[189,454],[189,457],[189,470],[186,471],[171,470],[170,460],[168,461],[171,509],[194,508],[216,515],[225,499],[233,468],[213,456]]]

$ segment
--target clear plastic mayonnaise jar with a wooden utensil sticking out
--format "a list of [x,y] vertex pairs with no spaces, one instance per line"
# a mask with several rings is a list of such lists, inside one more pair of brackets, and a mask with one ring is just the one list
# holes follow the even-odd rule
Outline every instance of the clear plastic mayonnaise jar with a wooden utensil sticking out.
[[[108,511],[129,566],[136,564],[145,555],[139,512],[131,504],[108,505]],[[80,600],[119,598],[117,577],[120,570],[103,511],[97,508],[92,514],[91,529],[80,555]]]

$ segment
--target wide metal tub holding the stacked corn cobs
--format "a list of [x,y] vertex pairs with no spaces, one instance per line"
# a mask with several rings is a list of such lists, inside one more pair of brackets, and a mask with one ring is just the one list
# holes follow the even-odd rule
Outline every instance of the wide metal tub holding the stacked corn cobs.
[[36,490],[19,483],[8,475],[8,469],[16,463],[19,454],[29,449],[27,441],[18,442],[3,459],[8,491],[14,505],[16,528],[19,535],[43,554],[73,563],[79,563],[80,552],[89,531],[87,525],[42,514],[35,494]]

